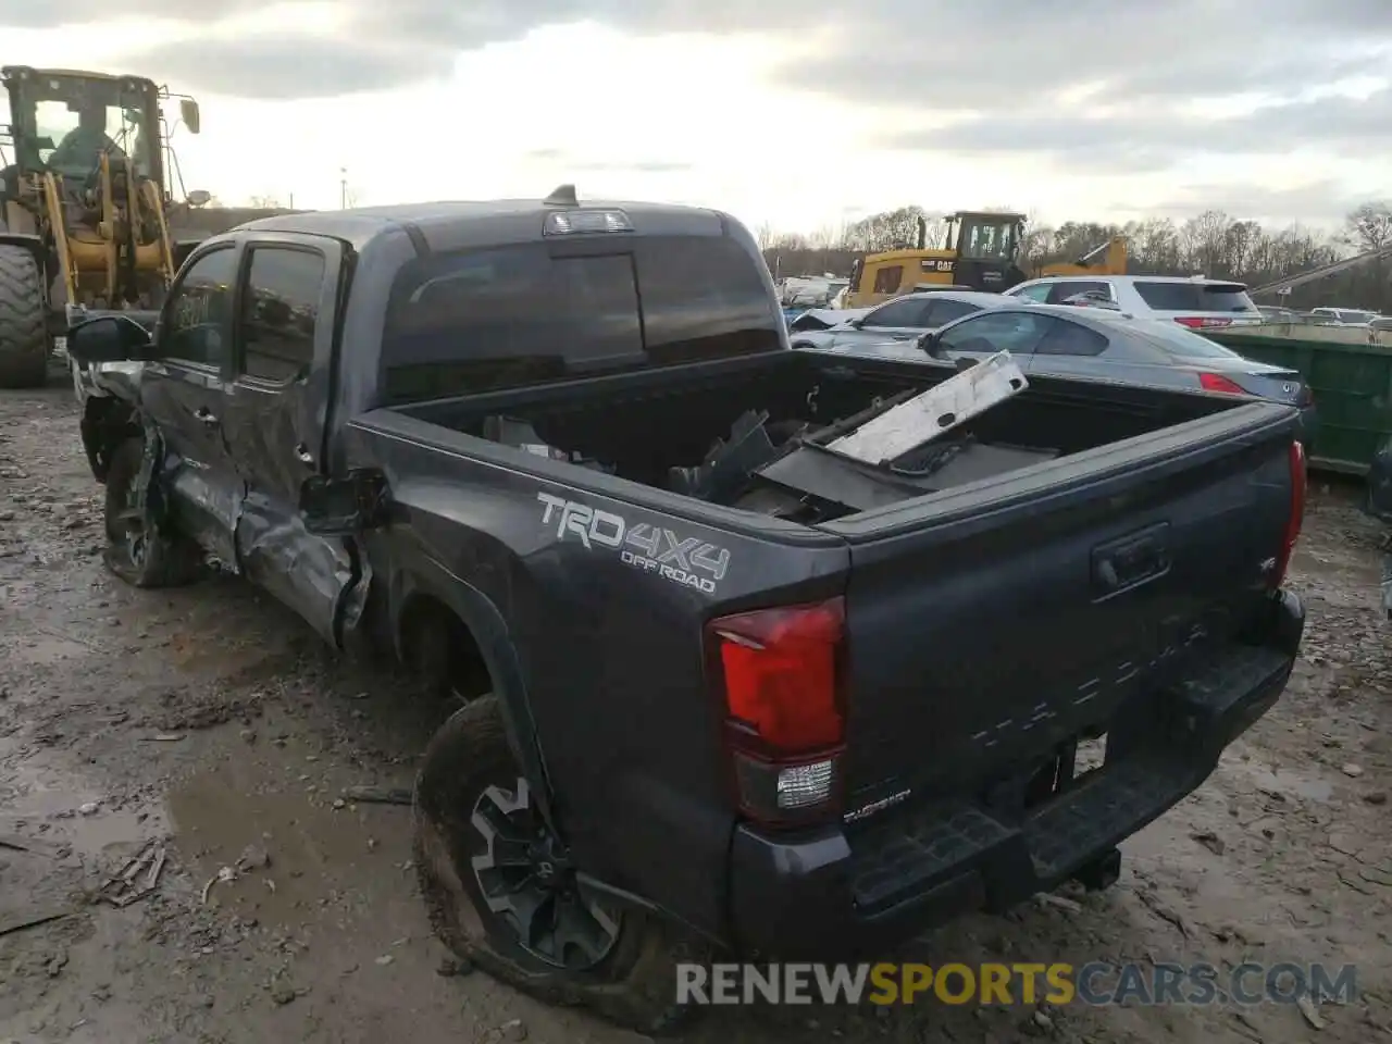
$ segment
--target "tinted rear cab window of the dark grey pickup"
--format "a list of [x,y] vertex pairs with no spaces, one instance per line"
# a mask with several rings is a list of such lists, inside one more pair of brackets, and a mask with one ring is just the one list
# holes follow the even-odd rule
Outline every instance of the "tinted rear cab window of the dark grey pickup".
[[781,351],[782,326],[754,259],[728,237],[433,255],[397,277],[383,387],[400,404]]

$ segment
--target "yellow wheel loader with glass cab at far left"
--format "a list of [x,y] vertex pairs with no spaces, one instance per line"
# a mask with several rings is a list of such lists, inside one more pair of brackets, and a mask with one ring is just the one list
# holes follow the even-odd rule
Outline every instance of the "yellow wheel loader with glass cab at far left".
[[39,387],[74,309],[157,309],[195,245],[170,237],[178,161],[163,106],[177,99],[198,134],[198,102],[75,70],[7,65],[0,82],[0,388]]

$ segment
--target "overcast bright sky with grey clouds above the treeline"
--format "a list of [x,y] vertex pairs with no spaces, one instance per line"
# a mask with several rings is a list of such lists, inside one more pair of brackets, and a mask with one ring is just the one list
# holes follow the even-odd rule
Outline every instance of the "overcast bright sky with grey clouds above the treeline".
[[1392,0],[0,0],[7,63],[193,93],[227,203],[1009,205],[1338,221],[1392,195]]

